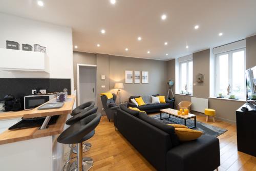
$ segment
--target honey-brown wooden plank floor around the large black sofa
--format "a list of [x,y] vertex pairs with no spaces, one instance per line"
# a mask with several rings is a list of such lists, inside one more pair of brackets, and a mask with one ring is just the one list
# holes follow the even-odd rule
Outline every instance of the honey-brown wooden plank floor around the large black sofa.
[[[204,116],[197,120],[205,122]],[[221,166],[219,170],[256,170],[256,157],[237,151],[236,125],[216,120],[209,124],[223,127],[228,131],[220,139]],[[96,134],[88,142],[91,149],[84,156],[92,157],[94,165],[91,170],[156,170],[139,152],[118,132],[114,123],[103,116],[96,128]],[[199,166],[200,167],[200,166]]]

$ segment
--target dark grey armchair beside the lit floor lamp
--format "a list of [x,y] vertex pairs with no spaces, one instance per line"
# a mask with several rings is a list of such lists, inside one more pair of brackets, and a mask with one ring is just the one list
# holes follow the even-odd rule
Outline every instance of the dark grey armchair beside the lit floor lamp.
[[112,93],[112,95],[113,95],[113,98],[111,99],[108,99],[105,95],[100,96],[104,111],[109,121],[110,119],[114,119],[114,114],[116,113],[117,109],[120,109],[120,105],[124,105],[127,107],[127,103],[122,103],[117,105],[115,103],[116,95],[114,93]]

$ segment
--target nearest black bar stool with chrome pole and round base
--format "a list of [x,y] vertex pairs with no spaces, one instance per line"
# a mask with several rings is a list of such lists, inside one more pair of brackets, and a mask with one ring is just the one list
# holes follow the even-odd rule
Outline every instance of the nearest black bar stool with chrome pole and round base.
[[[93,159],[90,157],[82,157],[82,142],[90,139],[95,134],[95,128],[99,124],[101,118],[100,113],[92,114],[82,120],[74,123],[68,129],[63,131],[57,141],[62,144],[75,144],[78,146],[78,154],[76,157],[71,158],[62,168],[65,170],[79,170],[87,171],[93,165]],[[76,161],[70,163],[73,159]]]

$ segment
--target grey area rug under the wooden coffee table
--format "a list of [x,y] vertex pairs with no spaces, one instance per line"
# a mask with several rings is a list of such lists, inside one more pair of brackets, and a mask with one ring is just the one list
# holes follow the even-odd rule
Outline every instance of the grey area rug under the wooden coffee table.
[[[172,116],[172,115],[170,115],[169,119],[163,119],[163,120],[160,120],[160,114],[151,115],[151,117],[154,119],[157,119],[163,123],[166,123],[166,124],[167,123],[175,123],[175,122],[177,122],[179,124],[184,124],[184,119],[180,119],[180,118]],[[166,118],[166,117],[169,117],[169,115],[163,113],[162,118]],[[172,122],[172,120],[175,122]],[[194,126],[194,119],[188,119],[187,126],[188,127]],[[205,135],[210,135],[210,136],[215,136],[215,137],[218,137],[219,135],[221,135],[227,131],[226,129],[222,129],[220,127],[212,126],[210,124],[199,122],[199,121],[197,121],[197,127],[195,127],[193,130],[202,131]]]

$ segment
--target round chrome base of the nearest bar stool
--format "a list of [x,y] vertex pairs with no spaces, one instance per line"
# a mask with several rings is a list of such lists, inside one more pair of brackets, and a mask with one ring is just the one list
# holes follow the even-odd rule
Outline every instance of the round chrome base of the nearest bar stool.
[[[70,163],[71,160],[75,159],[77,157],[71,158],[62,168],[62,171],[78,171],[77,168],[77,160]],[[93,166],[93,159],[91,157],[83,157],[82,158],[82,170],[88,171]]]

